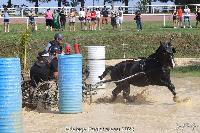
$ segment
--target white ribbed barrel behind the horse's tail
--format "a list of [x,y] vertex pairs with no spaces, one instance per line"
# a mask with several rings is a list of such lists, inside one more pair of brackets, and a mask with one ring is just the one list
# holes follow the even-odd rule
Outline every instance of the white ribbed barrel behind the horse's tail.
[[[88,69],[90,84],[95,85],[100,81],[98,76],[105,71],[105,46],[87,46],[88,48]],[[99,88],[105,88],[104,85]]]

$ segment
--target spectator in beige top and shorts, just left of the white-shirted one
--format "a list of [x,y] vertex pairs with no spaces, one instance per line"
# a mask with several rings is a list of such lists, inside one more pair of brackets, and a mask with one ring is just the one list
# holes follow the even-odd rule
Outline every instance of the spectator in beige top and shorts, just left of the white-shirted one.
[[69,31],[75,31],[76,11],[74,8],[70,9],[69,13]]

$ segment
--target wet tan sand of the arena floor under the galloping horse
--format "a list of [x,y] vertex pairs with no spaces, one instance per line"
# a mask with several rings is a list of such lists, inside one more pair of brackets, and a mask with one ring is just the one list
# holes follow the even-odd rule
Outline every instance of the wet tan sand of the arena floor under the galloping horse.
[[[135,101],[126,103],[121,94],[110,103],[115,85],[99,90],[93,103],[83,104],[79,114],[23,109],[25,133],[200,133],[200,77],[172,78],[179,103],[166,87],[131,86]],[[189,100],[188,100],[189,99]]]

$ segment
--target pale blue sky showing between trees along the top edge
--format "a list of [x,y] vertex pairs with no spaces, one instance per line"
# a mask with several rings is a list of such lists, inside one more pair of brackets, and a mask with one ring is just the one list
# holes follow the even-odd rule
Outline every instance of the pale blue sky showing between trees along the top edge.
[[[2,7],[3,4],[7,4],[7,1],[8,0],[0,0],[0,5]],[[134,6],[135,3],[137,2],[138,0],[132,0],[129,2],[129,6]],[[29,3],[28,1],[26,0],[12,0],[12,3],[14,5],[22,5],[22,4],[25,4],[27,6],[34,6],[34,3]],[[92,3],[93,3],[93,0],[86,0],[86,3],[85,5],[86,6],[92,6]],[[160,3],[160,2],[156,2],[154,4],[166,4],[166,3]],[[173,4],[173,3],[168,3],[168,4]],[[103,5],[103,0],[99,0],[99,1],[96,1],[95,0],[95,5]],[[120,2],[116,3],[115,5],[122,5]],[[49,3],[40,3],[40,6],[48,6],[48,7],[53,7],[53,6],[57,6],[57,2],[52,0],[52,2],[49,2]]]

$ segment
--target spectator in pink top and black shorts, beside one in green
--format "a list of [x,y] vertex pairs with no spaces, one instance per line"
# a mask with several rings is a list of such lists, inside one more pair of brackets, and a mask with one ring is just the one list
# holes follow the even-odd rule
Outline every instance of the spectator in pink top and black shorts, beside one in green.
[[49,9],[45,12],[45,19],[46,19],[46,30],[50,27],[52,31],[53,26],[53,12]]

